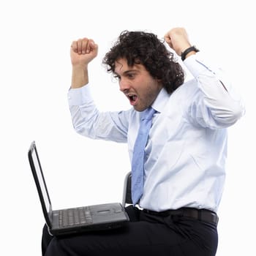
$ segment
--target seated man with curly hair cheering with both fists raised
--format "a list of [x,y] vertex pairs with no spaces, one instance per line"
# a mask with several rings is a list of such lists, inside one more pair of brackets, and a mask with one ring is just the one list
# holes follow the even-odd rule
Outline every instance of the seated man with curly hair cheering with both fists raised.
[[222,72],[198,58],[184,29],[168,31],[165,42],[181,56],[194,79],[184,83],[181,66],[157,36],[124,31],[103,63],[118,78],[132,108],[105,113],[94,105],[89,85],[88,66],[98,46],[87,38],[72,42],[69,108],[78,133],[127,143],[133,165],[140,119],[149,110],[153,117],[140,157],[142,189],[135,180],[138,162],[132,167],[134,206],[127,208],[129,225],[67,238],[49,238],[45,231],[43,255],[216,254],[227,127],[244,109]]

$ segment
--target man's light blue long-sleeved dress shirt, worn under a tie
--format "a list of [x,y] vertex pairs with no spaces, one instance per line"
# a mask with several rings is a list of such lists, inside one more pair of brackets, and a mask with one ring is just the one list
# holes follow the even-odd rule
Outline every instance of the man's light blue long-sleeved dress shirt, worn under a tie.
[[[184,61],[194,79],[173,94],[162,89],[152,105],[157,113],[146,146],[141,208],[195,207],[217,212],[225,184],[227,127],[243,116],[244,107],[222,70],[208,66],[198,56]],[[90,86],[68,92],[76,132],[127,143],[132,161],[140,112],[131,108],[100,113]]]

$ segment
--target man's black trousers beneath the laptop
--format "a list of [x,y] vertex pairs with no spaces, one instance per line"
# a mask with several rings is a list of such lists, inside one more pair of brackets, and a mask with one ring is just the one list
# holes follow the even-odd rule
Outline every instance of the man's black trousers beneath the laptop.
[[45,226],[43,256],[214,256],[217,226],[187,217],[159,217],[129,206],[127,227],[52,237]]

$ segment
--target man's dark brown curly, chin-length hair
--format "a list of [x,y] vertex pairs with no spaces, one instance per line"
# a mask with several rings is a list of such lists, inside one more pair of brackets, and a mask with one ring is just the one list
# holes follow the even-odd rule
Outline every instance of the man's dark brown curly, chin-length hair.
[[184,82],[184,71],[174,54],[167,50],[157,35],[145,31],[122,31],[116,43],[106,53],[102,64],[115,72],[115,62],[127,59],[127,64],[143,64],[153,78],[161,80],[168,94]]

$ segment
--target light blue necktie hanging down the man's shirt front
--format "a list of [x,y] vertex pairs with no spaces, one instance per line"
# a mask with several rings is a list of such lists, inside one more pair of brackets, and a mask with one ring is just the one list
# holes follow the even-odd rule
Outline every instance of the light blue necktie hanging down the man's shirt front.
[[148,133],[152,124],[152,117],[156,110],[147,108],[140,120],[140,129],[135,141],[132,156],[132,203],[135,206],[143,195],[144,157]]

